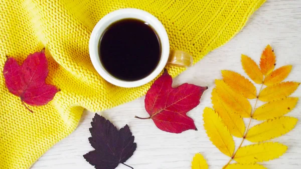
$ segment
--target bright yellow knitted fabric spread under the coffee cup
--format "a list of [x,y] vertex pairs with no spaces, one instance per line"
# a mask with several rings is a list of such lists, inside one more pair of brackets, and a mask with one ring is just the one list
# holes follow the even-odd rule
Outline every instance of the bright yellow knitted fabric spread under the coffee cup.
[[[146,10],[162,21],[173,49],[193,54],[194,63],[238,33],[264,0],[0,0],[0,69],[6,55],[19,64],[46,47],[47,83],[61,89],[44,106],[29,106],[0,75],[0,168],[29,168],[77,126],[83,109],[101,111],[133,100],[152,82],[122,88],[93,68],[88,42],[105,14],[126,7]],[[184,68],[167,66],[172,76]],[[122,112],[120,112],[122,113]]]

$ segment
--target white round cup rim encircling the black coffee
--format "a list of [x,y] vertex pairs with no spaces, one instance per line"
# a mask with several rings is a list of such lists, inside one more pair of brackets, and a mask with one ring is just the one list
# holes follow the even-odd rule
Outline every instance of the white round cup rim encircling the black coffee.
[[[136,18],[149,23],[155,29],[161,41],[161,58],[157,67],[146,77],[134,81],[125,81],[112,76],[103,67],[98,54],[98,44],[103,32],[111,23],[124,18]],[[89,40],[89,53],[94,68],[106,81],[120,87],[137,87],[155,79],[164,69],[168,61],[169,52],[170,43],[168,34],[161,21],[147,11],[136,8],[123,8],[106,14],[93,28]]]

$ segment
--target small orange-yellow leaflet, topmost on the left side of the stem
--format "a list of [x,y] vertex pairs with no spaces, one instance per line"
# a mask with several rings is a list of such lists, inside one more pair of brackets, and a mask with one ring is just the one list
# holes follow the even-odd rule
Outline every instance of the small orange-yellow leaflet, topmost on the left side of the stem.
[[254,60],[252,60],[249,56],[242,54],[241,64],[245,72],[255,83],[262,83],[263,74]]

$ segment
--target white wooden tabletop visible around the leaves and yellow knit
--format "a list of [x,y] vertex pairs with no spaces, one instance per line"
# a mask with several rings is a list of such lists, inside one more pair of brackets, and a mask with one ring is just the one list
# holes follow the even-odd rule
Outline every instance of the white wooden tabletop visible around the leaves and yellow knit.
[[[132,102],[99,112],[110,119],[117,127],[125,124],[135,136],[137,149],[125,163],[135,169],[190,168],[192,157],[201,152],[209,168],[221,168],[229,157],[221,153],[207,137],[202,113],[205,106],[211,107],[211,90],[214,79],[221,78],[220,70],[231,69],[243,75],[240,63],[241,53],[259,62],[260,54],[266,44],[271,44],[276,53],[276,67],[292,64],[292,72],[287,80],[301,81],[301,0],[270,0],[257,10],[248,24],[232,40],[210,52],[193,67],[174,80],[177,86],[184,82],[209,86],[202,96],[201,103],[188,115],[196,123],[198,131],[188,130],[181,134],[173,134],[158,129],[153,120],[140,120],[135,115],[147,116],[144,109],[144,97]],[[258,87],[258,86],[257,86]],[[301,97],[301,87],[293,96]],[[251,102],[254,104],[254,102]],[[301,119],[301,103],[297,104],[290,116]],[[94,168],[83,158],[83,154],[92,150],[88,137],[88,128],[94,116],[85,111],[77,129],[67,138],[61,140],[48,150],[32,168]],[[295,128],[284,136],[273,139],[288,146],[287,152],[278,159],[263,162],[267,168],[301,168],[301,125],[298,121]],[[240,138],[234,138],[236,145]],[[245,144],[249,142],[245,141]],[[120,164],[117,168],[128,168]]]

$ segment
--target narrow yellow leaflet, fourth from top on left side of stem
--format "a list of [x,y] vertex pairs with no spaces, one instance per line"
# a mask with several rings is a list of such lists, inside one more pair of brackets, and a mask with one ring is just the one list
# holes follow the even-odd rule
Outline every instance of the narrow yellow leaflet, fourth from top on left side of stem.
[[242,118],[231,111],[231,109],[219,97],[215,88],[212,90],[211,99],[213,108],[221,116],[222,121],[228,127],[230,133],[237,137],[243,137],[245,124]]

